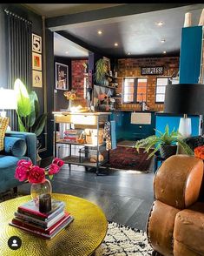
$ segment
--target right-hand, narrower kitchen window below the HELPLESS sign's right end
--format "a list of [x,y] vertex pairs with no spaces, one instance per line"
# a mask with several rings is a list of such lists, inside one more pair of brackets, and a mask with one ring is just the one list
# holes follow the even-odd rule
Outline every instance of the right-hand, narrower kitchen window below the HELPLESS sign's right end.
[[164,103],[166,86],[170,84],[169,77],[156,78],[155,102]]

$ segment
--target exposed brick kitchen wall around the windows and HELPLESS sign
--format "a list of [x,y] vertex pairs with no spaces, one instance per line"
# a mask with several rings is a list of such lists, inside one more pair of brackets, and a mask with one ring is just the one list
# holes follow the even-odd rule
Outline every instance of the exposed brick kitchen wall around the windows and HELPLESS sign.
[[[179,57],[146,57],[146,58],[122,58],[118,60],[118,89],[117,93],[122,93],[122,78],[123,77],[148,77],[148,94],[147,104],[150,111],[163,111],[163,104],[155,104],[155,75],[141,76],[142,66],[163,66],[163,76],[172,76],[179,71]],[[122,109],[141,110],[139,104],[122,104],[119,102],[119,107]]]

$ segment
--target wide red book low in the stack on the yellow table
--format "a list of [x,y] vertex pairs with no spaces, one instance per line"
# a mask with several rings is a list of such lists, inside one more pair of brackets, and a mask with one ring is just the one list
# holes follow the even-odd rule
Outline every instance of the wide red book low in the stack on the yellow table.
[[14,218],[11,220],[11,222],[13,224],[16,224],[17,226],[23,226],[25,228],[28,228],[30,230],[35,230],[35,231],[38,231],[38,232],[43,232],[43,233],[46,233],[46,234],[49,234],[51,235],[53,232],[56,231],[56,229],[63,225],[63,223],[70,218],[70,214],[68,212],[65,212],[65,216],[63,216],[62,219],[58,220],[56,222],[56,224],[54,224],[53,226],[50,226],[49,228],[43,228],[41,226],[36,226],[35,224],[31,224],[29,221],[26,221],[26,220],[23,220],[23,219],[18,219],[18,218]]

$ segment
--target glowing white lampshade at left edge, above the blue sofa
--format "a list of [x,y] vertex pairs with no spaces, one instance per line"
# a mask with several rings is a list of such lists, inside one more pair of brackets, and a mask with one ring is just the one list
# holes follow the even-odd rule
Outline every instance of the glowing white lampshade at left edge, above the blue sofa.
[[0,88],[0,110],[16,110],[16,94],[14,90]]

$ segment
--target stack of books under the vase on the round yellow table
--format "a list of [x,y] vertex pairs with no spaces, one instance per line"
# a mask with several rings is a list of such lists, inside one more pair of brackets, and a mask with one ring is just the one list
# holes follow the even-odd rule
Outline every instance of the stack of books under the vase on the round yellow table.
[[18,206],[10,225],[52,239],[74,219],[64,211],[64,202],[52,199],[52,209],[48,213],[39,212],[33,200]]

